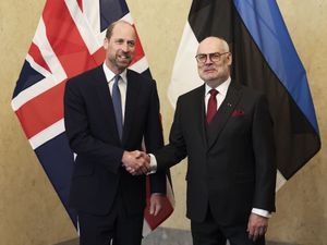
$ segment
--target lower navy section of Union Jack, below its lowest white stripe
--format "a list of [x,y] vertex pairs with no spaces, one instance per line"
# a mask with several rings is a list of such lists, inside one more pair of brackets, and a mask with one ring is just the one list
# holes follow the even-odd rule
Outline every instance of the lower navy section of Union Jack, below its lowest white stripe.
[[35,149],[35,152],[69,216],[76,225],[76,213],[74,210],[69,209],[68,205],[74,159],[65,133],[39,146]]

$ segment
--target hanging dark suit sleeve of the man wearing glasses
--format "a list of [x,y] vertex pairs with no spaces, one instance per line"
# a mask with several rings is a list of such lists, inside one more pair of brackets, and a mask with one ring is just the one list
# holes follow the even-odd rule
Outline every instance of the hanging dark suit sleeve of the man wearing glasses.
[[276,152],[267,100],[259,97],[254,111],[252,140],[255,155],[255,192],[253,207],[275,211]]

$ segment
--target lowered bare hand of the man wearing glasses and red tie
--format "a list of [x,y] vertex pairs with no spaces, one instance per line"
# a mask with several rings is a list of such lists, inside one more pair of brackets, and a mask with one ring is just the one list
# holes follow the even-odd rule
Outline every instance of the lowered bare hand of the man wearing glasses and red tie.
[[259,236],[266,234],[268,228],[268,218],[251,213],[247,223],[249,238],[256,241]]

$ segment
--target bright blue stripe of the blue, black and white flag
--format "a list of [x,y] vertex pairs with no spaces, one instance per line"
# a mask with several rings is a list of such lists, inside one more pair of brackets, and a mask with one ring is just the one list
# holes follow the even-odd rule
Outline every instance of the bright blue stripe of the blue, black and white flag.
[[318,133],[305,70],[276,1],[233,0],[233,2],[269,66]]

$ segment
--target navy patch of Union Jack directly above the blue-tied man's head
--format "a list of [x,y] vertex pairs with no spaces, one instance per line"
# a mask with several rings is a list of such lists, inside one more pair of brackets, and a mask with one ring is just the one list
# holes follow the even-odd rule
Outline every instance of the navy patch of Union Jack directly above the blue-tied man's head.
[[129,13],[124,0],[100,0],[100,28],[104,32],[108,25]]

